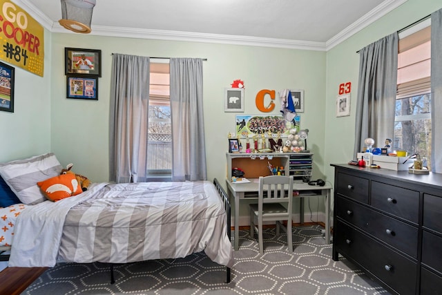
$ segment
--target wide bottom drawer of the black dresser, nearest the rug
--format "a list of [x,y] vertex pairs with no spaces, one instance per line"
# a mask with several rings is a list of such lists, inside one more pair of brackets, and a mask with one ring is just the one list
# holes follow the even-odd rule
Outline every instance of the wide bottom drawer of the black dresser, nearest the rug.
[[337,220],[336,247],[398,294],[416,293],[417,263]]

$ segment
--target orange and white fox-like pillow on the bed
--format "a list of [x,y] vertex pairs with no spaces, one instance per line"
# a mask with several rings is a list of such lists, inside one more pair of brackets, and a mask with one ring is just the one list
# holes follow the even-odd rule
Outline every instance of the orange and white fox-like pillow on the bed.
[[57,202],[61,199],[82,193],[81,187],[74,174],[62,174],[37,182],[48,200]]

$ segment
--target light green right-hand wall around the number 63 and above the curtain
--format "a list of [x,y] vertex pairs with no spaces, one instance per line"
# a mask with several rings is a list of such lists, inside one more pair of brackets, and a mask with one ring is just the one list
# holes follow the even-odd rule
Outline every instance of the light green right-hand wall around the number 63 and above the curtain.
[[[440,0],[408,0],[367,28],[327,51],[327,90],[325,104],[325,166],[327,180],[333,182],[330,163],[347,163],[353,158],[359,55],[356,51],[401,30],[442,7]],[[341,83],[352,82],[352,104],[349,117],[336,117],[336,96]],[[376,143],[381,144],[383,142]],[[375,145],[376,145],[375,144]]]

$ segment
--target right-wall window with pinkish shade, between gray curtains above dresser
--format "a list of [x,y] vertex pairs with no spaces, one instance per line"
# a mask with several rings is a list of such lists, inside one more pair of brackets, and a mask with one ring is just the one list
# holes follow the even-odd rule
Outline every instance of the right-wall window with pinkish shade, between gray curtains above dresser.
[[431,27],[422,23],[412,34],[404,33],[399,35],[393,149],[430,159]]

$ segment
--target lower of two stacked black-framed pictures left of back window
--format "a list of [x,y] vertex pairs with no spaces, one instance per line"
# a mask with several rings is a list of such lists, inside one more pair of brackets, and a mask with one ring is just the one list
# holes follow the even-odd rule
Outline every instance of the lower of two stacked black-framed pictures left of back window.
[[77,99],[98,99],[98,77],[68,76],[66,97]]

